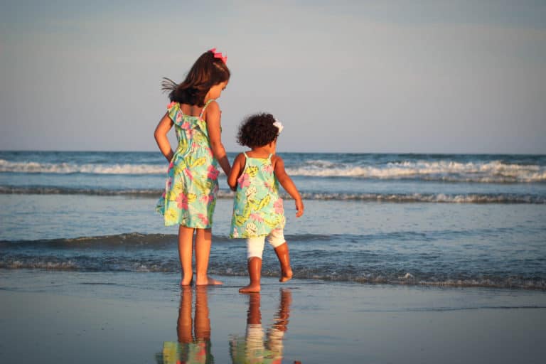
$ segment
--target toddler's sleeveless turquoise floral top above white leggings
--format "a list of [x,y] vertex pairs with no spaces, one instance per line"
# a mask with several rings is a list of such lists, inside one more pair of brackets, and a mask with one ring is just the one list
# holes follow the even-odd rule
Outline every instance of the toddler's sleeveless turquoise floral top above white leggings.
[[250,158],[237,180],[230,237],[258,237],[284,228],[284,208],[279,181],[273,173],[272,154]]

